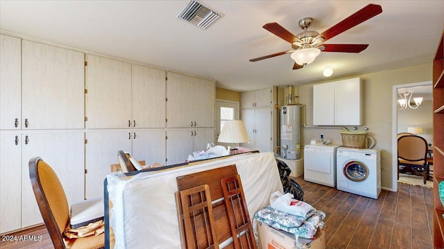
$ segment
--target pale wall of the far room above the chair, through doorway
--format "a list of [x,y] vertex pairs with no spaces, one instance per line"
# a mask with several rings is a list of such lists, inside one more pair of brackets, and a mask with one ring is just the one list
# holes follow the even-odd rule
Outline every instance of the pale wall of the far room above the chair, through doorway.
[[422,127],[422,134],[418,136],[433,144],[432,100],[422,101],[417,109],[398,110],[398,133],[407,132],[407,127]]

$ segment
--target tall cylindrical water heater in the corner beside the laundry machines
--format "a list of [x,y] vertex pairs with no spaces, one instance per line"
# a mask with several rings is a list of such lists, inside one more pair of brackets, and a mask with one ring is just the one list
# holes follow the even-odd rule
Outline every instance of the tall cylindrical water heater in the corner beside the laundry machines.
[[300,159],[300,106],[281,107],[280,112],[280,156]]

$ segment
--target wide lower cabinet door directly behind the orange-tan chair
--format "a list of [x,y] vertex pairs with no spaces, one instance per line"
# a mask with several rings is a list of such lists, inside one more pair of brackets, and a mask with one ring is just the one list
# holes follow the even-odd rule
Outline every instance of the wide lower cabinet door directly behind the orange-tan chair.
[[23,133],[22,227],[42,222],[29,178],[28,163],[35,156],[40,156],[56,172],[69,205],[84,199],[84,138],[83,131]]

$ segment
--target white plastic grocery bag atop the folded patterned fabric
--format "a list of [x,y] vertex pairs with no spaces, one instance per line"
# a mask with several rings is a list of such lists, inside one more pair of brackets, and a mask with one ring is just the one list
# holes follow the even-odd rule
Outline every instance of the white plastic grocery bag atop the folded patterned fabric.
[[308,203],[293,199],[293,194],[282,194],[279,191],[271,194],[270,205],[276,210],[303,217],[314,211],[314,208]]

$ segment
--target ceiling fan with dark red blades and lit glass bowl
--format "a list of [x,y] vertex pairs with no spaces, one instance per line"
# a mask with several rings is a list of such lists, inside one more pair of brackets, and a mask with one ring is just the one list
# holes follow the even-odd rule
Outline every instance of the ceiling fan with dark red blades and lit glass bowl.
[[376,4],[369,4],[362,8],[355,14],[343,19],[332,28],[325,30],[319,34],[316,31],[307,30],[311,25],[313,19],[311,17],[305,17],[300,19],[299,27],[304,32],[298,35],[293,35],[288,30],[280,26],[278,23],[265,24],[262,28],[270,31],[278,37],[284,39],[291,44],[290,50],[282,51],[280,53],[274,53],[273,55],[266,55],[250,59],[250,62],[257,62],[262,59],[268,59],[279,55],[285,55],[291,53],[291,59],[295,60],[293,66],[294,69],[302,68],[316,59],[316,57],[322,52],[341,52],[341,53],[359,53],[368,47],[368,44],[323,44],[328,39],[335,37],[343,33],[361,22],[364,22],[376,15],[382,13],[382,8]]

